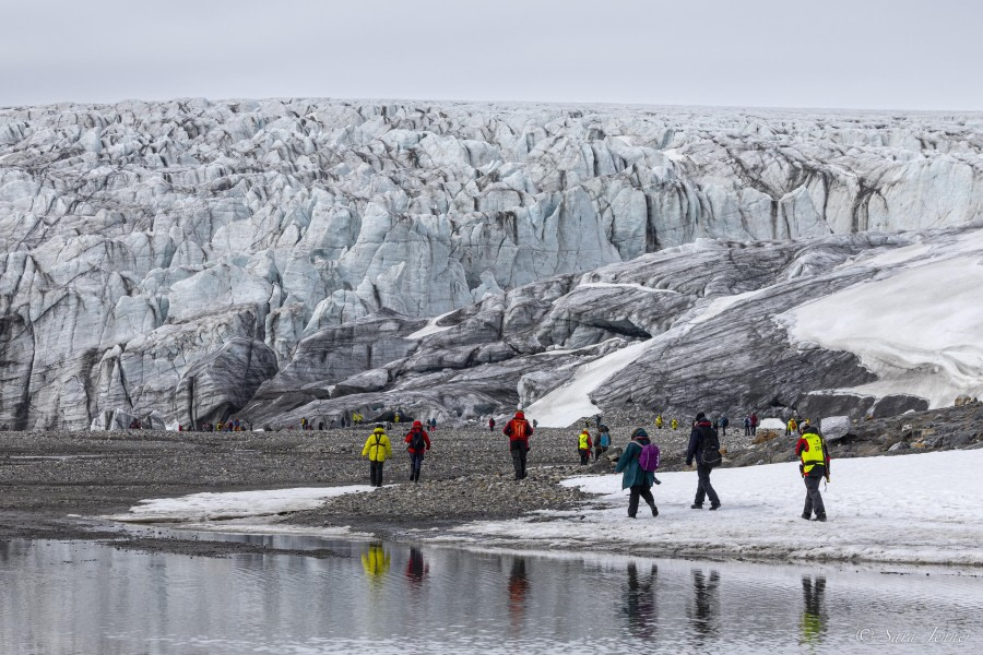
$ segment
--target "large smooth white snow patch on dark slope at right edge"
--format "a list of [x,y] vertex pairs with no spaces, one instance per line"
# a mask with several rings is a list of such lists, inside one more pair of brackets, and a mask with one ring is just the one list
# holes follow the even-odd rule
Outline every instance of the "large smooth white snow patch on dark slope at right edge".
[[931,408],[983,395],[983,230],[857,263],[876,272],[869,282],[777,317],[790,336],[853,353],[878,377],[842,391],[917,395]]

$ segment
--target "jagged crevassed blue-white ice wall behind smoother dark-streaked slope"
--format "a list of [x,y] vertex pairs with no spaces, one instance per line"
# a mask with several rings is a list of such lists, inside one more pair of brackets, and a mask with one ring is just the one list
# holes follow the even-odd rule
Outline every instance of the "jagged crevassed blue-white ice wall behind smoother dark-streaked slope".
[[325,330],[383,330],[378,347],[346,355],[375,369],[406,355],[402,333],[384,332],[390,317],[701,237],[962,224],[983,216],[981,153],[973,115],[199,99],[0,109],[0,426],[85,427],[109,409],[215,418],[277,371],[308,369],[297,384],[321,366],[325,383],[354,379],[344,354],[311,361],[299,347]]

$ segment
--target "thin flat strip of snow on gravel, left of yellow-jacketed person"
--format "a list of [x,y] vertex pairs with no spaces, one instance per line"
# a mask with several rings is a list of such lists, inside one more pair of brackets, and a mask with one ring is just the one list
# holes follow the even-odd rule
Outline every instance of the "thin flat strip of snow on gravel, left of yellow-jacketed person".
[[282,512],[312,510],[335,496],[371,491],[368,485],[347,487],[306,487],[226,493],[192,493],[180,498],[141,500],[126,514],[105,516],[123,523],[193,523],[250,516],[270,516]]

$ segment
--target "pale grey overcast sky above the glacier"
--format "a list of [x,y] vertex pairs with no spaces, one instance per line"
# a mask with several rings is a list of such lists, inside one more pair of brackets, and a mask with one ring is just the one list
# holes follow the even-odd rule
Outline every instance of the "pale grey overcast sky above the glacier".
[[182,96],[983,109],[979,0],[0,0],[0,106]]

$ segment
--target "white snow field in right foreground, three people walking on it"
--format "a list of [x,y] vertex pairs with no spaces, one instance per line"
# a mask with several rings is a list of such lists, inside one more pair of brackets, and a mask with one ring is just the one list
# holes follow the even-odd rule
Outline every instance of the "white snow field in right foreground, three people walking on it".
[[[600,549],[677,557],[983,567],[983,450],[834,460],[822,490],[829,520],[801,517],[797,464],[722,468],[711,477],[722,508],[689,509],[695,472],[656,474],[659,516],[627,516],[621,476],[571,478],[609,507],[478,522],[438,540],[523,548]],[[544,517],[552,519],[543,521]]]

